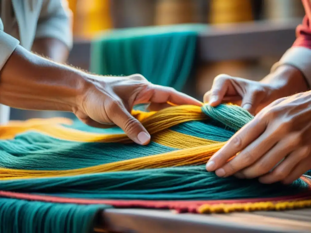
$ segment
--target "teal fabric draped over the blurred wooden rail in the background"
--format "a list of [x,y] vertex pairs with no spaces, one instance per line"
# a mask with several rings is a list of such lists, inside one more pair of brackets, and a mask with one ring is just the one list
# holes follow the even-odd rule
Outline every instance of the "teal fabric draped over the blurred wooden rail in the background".
[[100,75],[142,74],[153,84],[182,90],[193,66],[203,25],[112,30],[92,43],[91,71]]

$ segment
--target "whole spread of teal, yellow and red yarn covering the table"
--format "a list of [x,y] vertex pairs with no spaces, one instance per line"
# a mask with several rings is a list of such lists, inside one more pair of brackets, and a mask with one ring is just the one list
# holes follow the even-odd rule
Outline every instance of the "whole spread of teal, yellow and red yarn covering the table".
[[151,134],[137,145],[117,127],[65,118],[0,126],[0,232],[92,232],[101,210],[197,214],[311,206],[306,173],[290,185],[219,178],[205,163],[253,119],[234,105],[133,110]]

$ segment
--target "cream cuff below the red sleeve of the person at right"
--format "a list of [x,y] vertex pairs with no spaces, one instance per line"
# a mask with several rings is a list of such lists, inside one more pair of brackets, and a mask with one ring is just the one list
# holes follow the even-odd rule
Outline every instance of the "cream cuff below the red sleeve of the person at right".
[[291,47],[284,53],[280,61],[272,66],[271,71],[281,65],[291,65],[299,69],[306,78],[309,87],[311,86],[311,49]]

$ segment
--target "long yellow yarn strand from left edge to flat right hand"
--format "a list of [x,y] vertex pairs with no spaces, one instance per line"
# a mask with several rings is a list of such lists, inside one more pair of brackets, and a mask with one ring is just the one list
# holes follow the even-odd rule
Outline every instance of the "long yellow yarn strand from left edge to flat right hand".
[[225,143],[217,143],[141,158],[111,162],[72,170],[21,170],[0,168],[0,180],[27,179],[47,176],[75,176],[108,171],[134,171],[144,168],[175,167],[204,164]]

